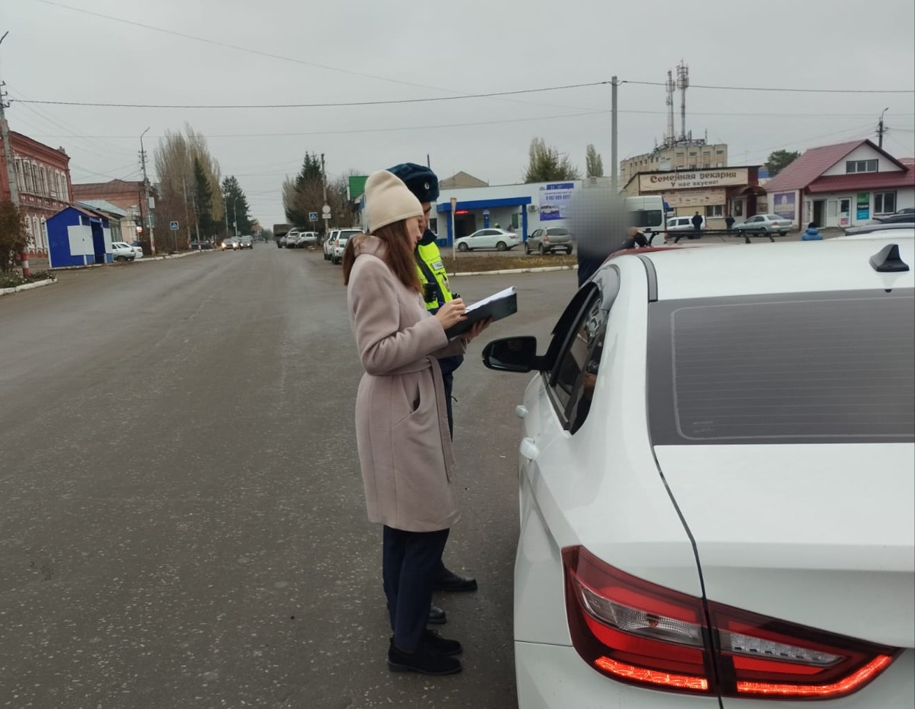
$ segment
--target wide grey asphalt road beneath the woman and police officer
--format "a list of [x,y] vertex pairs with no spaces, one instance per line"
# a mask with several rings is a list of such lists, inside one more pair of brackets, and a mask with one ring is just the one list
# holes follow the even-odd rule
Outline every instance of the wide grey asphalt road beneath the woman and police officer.
[[[439,595],[464,673],[392,674],[340,267],[252,252],[63,272],[0,298],[0,707],[515,706],[513,416],[486,339],[544,338],[572,272],[456,279],[520,312],[458,371],[464,519]],[[545,343],[544,343],[545,345]]]

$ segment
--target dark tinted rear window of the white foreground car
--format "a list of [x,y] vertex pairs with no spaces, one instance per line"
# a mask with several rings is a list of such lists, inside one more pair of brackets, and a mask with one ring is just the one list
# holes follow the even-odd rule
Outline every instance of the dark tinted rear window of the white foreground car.
[[655,445],[915,441],[915,291],[651,304]]

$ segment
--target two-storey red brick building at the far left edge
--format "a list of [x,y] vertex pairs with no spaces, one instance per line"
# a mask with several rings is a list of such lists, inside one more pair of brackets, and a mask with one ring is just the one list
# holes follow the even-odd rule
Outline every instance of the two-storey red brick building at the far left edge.
[[[62,148],[53,148],[27,135],[9,132],[19,208],[25,216],[26,232],[33,253],[48,252],[48,229],[45,222],[66,209],[72,199],[70,156]],[[12,199],[6,161],[0,150],[0,201]]]

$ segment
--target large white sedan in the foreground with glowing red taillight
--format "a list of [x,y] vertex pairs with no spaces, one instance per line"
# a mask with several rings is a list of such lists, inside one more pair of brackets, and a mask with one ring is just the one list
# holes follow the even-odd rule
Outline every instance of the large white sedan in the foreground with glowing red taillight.
[[544,352],[487,345],[537,372],[521,709],[912,706],[912,267],[892,235],[627,252]]

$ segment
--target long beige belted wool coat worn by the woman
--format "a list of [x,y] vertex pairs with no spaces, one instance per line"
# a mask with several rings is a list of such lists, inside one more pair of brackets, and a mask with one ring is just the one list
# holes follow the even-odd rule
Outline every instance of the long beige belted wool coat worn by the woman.
[[356,443],[369,520],[436,532],[460,520],[437,357],[461,354],[418,293],[382,261],[384,243],[358,238],[347,299],[365,374],[356,396]]

